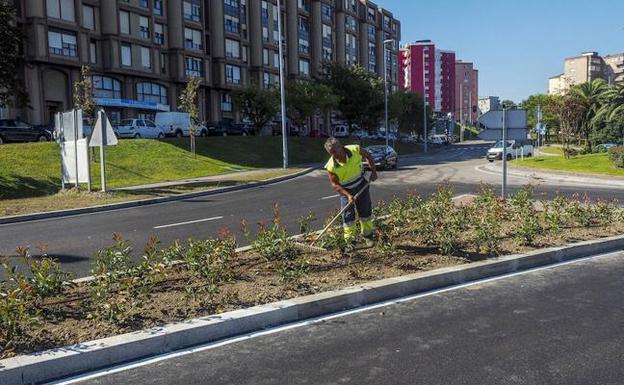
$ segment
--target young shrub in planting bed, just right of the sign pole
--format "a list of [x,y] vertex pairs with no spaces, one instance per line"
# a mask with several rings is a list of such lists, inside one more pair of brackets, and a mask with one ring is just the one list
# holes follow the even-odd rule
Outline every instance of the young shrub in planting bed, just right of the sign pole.
[[530,245],[541,230],[533,203],[531,186],[525,186],[511,196],[513,234],[521,245]]

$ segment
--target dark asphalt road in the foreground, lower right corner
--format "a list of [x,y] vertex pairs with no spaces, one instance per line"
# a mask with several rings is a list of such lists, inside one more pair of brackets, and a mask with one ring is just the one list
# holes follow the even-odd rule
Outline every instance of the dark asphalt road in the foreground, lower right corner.
[[624,254],[178,352],[81,385],[621,385]]

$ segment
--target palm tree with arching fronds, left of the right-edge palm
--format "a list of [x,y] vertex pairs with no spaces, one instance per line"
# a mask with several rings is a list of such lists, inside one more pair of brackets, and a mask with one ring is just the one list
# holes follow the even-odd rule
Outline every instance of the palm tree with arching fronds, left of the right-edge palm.
[[591,82],[576,85],[570,89],[570,94],[575,96],[580,102],[582,119],[579,124],[579,134],[585,139],[586,146],[591,152],[590,136],[594,128],[597,127],[596,115],[602,106],[603,93],[607,89],[607,83],[602,79],[594,79]]

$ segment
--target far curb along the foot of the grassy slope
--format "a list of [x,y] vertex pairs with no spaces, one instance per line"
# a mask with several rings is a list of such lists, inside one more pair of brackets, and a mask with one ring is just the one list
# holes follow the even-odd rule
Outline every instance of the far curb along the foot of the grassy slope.
[[40,220],[40,219],[59,218],[59,217],[66,217],[66,216],[72,216],[72,215],[78,215],[78,214],[89,214],[89,213],[96,213],[96,212],[103,212],[103,211],[119,210],[119,209],[131,208],[131,207],[153,205],[153,204],[158,204],[158,203],[181,201],[184,199],[198,198],[198,197],[204,197],[208,195],[223,194],[223,193],[233,192],[233,191],[247,190],[247,189],[251,189],[254,187],[266,186],[266,185],[284,182],[290,179],[298,178],[300,176],[309,174],[312,171],[319,169],[319,167],[320,166],[309,167],[303,171],[299,171],[290,175],[279,176],[276,178],[271,178],[271,179],[267,179],[267,180],[259,181],[259,182],[250,182],[250,183],[239,185],[239,186],[217,188],[217,189],[208,190],[208,191],[197,191],[197,192],[172,195],[172,196],[167,196],[167,197],[148,198],[148,199],[141,199],[141,200],[136,200],[136,201],[131,201],[131,202],[113,203],[109,205],[83,207],[83,208],[78,208],[78,209],[59,210],[59,211],[50,211],[50,212],[43,212],[43,213],[0,217],[0,225],[9,224],[9,223],[29,222],[29,221]]

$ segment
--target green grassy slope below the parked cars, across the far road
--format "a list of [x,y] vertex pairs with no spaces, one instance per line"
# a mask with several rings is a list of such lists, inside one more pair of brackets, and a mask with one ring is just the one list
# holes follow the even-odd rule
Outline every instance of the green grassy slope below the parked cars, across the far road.
[[[289,137],[290,165],[325,161],[327,154],[323,143],[323,139]],[[196,157],[188,151],[188,145],[188,138],[162,141],[132,139],[121,140],[118,146],[107,147],[108,187],[282,166],[281,137],[198,138]],[[400,154],[413,153],[419,148],[403,144],[397,147]],[[97,151],[93,159],[99,160]],[[93,188],[99,189],[99,163],[91,163],[91,180]],[[56,143],[0,146],[0,199],[47,196],[60,189],[60,154]]]

